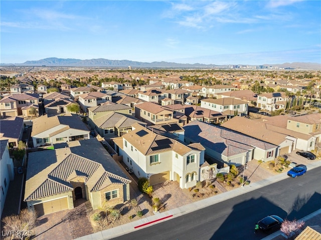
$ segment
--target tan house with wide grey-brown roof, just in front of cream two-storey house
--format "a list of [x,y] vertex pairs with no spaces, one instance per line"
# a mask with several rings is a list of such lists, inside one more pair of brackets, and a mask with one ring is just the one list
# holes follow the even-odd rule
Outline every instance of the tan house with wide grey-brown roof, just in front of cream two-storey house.
[[131,107],[128,107],[123,104],[117,104],[113,102],[106,102],[97,107],[88,108],[88,115],[92,121],[96,119],[108,115],[110,112],[117,112],[131,115]]

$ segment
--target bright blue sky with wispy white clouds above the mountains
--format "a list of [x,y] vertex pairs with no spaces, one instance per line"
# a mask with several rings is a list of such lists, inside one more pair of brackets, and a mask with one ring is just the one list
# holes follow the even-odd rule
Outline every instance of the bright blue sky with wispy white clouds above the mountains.
[[321,1],[1,1],[1,63],[321,63]]

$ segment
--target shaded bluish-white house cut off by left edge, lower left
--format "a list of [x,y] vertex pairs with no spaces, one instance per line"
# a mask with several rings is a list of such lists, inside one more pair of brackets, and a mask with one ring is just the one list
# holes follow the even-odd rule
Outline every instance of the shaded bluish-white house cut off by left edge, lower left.
[[9,140],[0,140],[0,216],[4,210],[10,181],[15,178],[14,161],[9,155],[8,142]]

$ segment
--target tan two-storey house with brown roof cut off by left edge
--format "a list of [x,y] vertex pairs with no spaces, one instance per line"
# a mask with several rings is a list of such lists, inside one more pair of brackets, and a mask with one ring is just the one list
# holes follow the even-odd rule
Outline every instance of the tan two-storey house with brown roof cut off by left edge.
[[0,100],[1,117],[23,115],[22,108],[27,106],[38,107],[38,94],[17,93]]

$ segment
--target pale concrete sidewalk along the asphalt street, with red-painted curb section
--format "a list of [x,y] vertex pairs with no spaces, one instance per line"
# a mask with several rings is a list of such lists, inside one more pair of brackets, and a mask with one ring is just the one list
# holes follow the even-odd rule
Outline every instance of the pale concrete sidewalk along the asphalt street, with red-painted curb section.
[[[321,166],[321,162],[320,161],[315,161],[315,162],[311,162],[309,164],[306,164],[307,169],[311,170],[313,168],[319,167]],[[230,199],[232,197],[235,196],[239,196],[242,194],[245,194],[247,192],[256,190],[258,188],[264,187],[266,185],[275,183],[277,181],[283,180],[285,178],[288,178],[288,176],[286,175],[286,172],[281,173],[281,174],[277,174],[275,176],[269,177],[267,179],[263,179],[257,182],[253,182],[250,185],[245,185],[244,187],[239,187],[237,189],[231,190],[231,191],[227,191],[227,192],[223,192],[219,195],[213,196],[213,197],[209,197],[197,202],[193,202],[190,203],[188,205],[184,205],[175,209],[171,209],[169,211],[166,212],[162,212],[162,213],[156,213],[155,215],[151,215],[151,216],[147,216],[145,218],[141,218],[137,221],[134,222],[130,222],[121,226],[117,226],[117,227],[113,227],[111,229],[107,229],[107,230],[103,230],[100,232],[96,232],[90,235],[86,235],[86,236],[82,236],[77,238],[77,240],[88,240],[88,239],[95,239],[95,240],[106,240],[106,239],[111,239],[123,234],[127,234],[129,232],[135,231],[136,229],[141,229],[143,227],[147,227],[150,226],[152,224],[156,224],[160,221],[164,221],[167,219],[172,219],[173,217],[178,217],[178,216],[182,216],[184,214],[190,213],[192,211],[196,211],[198,209],[202,209],[205,208],[207,206],[222,202],[224,200]],[[312,213],[308,216],[306,216],[308,219],[310,219],[311,217],[315,216],[315,214],[317,215],[318,218],[319,215],[321,215],[321,210],[317,211],[316,213]],[[320,223],[317,223],[320,224]],[[283,240],[284,238],[275,238],[278,235],[280,235],[281,233],[279,231],[263,238],[264,240]],[[262,239],[262,240],[263,240]]]

